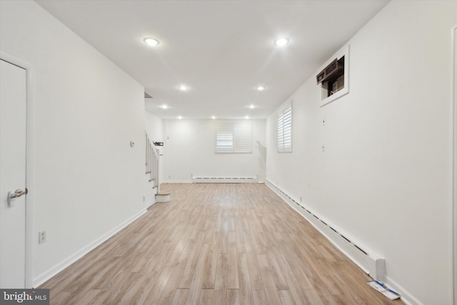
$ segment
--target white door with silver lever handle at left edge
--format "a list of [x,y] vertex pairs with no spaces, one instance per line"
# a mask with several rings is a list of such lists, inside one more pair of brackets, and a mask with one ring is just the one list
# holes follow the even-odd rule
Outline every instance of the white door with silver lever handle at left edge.
[[0,64],[0,288],[22,289],[26,246],[26,196],[21,196],[26,191],[26,70],[3,60]]

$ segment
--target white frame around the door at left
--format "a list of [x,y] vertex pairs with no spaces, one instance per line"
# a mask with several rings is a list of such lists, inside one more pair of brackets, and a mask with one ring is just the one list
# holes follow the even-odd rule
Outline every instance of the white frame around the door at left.
[[[34,215],[34,179],[33,179],[33,151],[34,151],[34,103],[33,103],[33,75],[34,66],[11,54],[0,51],[0,59],[19,66],[26,70],[26,187],[29,194],[26,196],[26,236],[25,236],[25,288],[33,287],[33,215]],[[38,239],[38,236],[36,236]]]

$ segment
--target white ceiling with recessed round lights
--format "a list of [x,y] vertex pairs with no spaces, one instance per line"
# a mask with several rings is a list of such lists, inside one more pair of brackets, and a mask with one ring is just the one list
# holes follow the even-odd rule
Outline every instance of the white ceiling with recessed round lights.
[[153,114],[265,119],[388,0],[36,2],[139,81]]

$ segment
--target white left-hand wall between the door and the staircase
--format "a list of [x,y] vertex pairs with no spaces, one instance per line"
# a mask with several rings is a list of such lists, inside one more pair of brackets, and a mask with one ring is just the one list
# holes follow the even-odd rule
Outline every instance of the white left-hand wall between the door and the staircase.
[[33,69],[36,286],[144,211],[144,88],[33,1],[0,14],[1,51]]

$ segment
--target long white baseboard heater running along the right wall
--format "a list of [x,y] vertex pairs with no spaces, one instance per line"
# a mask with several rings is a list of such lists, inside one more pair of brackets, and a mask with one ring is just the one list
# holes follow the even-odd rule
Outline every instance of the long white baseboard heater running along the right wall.
[[366,251],[366,249],[363,249],[362,246],[348,239],[348,237],[328,225],[326,221],[323,221],[298,201],[292,199],[291,196],[288,196],[288,194],[279,189],[278,186],[272,184],[271,181],[266,179],[266,184],[293,209],[298,211],[298,213],[308,220],[316,229],[318,229],[318,231],[326,236],[326,238],[337,246],[338,249],[340,249],[344,254],[346,254],[346,256],[356,263],[366,274],[369,274],[377,281],[383,282],[386,280],[386,262],[384,259],[376,254]]

